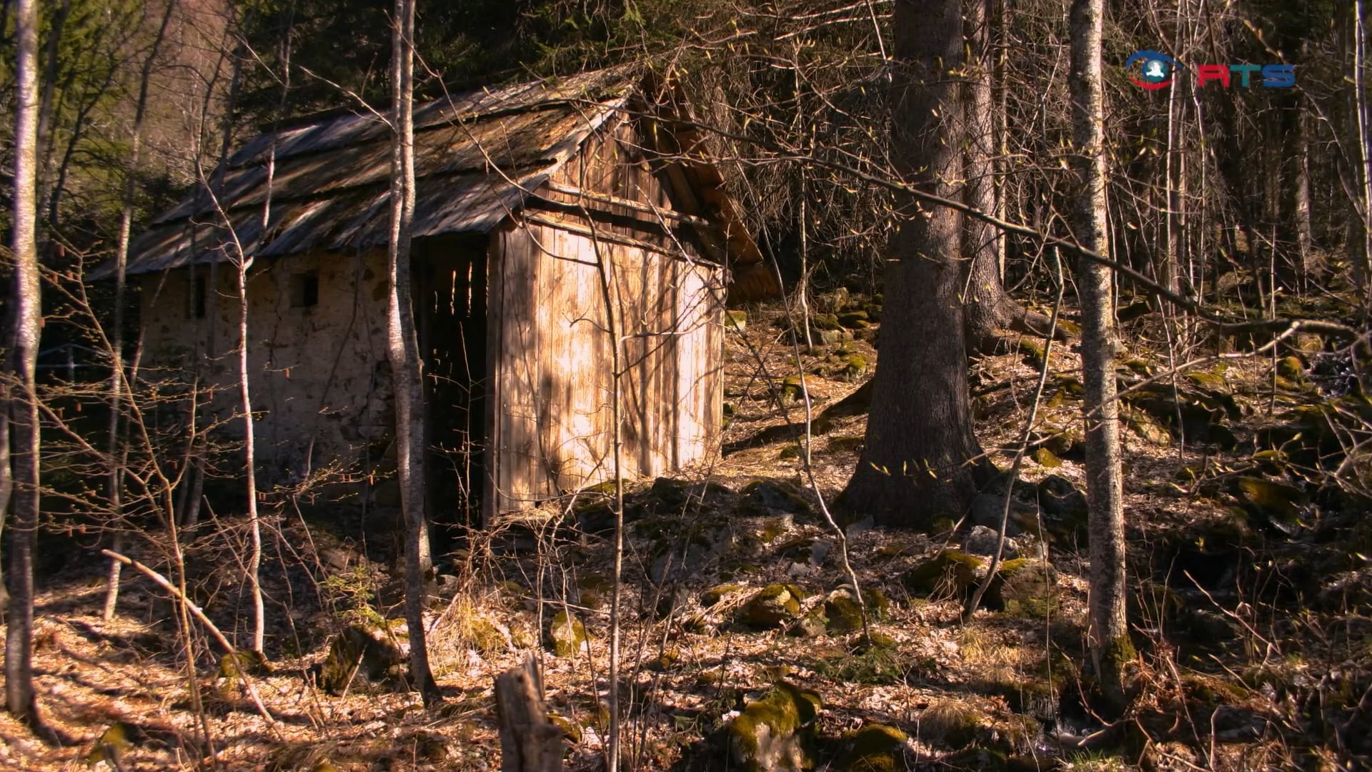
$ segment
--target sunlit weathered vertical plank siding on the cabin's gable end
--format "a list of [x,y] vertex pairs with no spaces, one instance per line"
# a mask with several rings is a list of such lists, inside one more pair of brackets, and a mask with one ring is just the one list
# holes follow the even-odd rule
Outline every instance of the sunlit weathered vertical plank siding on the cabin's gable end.
[[[632,126],[623,124],[589,140],[552,183],[672,210],[635,147]],[[497,397],[488,404],[488,514],[613,477],[600,261],[609,265],[623,337],[624,477],[705,460],[720,427],[722,272],[697,260],[689,232],[654,227],[654,214],[541,192],[615,217],[531,209],[491,235],[487,371]]]

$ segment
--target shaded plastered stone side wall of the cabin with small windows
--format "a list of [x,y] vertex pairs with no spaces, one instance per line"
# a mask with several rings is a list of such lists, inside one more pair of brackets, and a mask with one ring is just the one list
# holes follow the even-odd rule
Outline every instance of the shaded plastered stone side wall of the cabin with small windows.
[[[217,297],[203,319],[192,312],[196,277],[209,288],[209,265],[140,279],[145,359],[193,368],[210,341],[217,415],[236,415],[239,293],[233,265],[221,264]],[[309,275],[317,279],[307,299]],[[339,466],[339,481],[365,474],[387,452],[394,426],[386,360],[386,251],[313,251],[262,261],[248,271],[248,371],[263,484],[300,479]],[[213,312],[213,313],[211,313]],[[211,319],[213,317],[213,319]],[[224,431],[241,438],[241,420]]]

